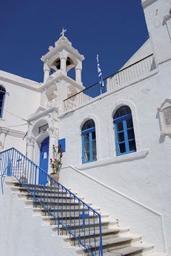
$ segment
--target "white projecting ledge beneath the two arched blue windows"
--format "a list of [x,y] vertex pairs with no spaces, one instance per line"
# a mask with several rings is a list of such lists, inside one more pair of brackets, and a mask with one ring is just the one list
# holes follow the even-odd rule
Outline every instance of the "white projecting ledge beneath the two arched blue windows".
[[103,159],[101,161],[94,161],[91,163],[84,163],[83,165],[76,165],[75,167],[79,170],[87,170],[100,166],[112,165],[115,163],[131,162],[139,159],[144,159],[148,155],[149,150],[141,150],[130,154],[124,154],[120,156],[114,156],[109,159]]

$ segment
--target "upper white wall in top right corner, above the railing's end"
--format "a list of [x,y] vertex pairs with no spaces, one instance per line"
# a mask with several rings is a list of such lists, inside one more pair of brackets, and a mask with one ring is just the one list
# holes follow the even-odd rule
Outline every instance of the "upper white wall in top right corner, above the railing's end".
[[171,58],[170,0],[142,0],[142,7],[159,64]]

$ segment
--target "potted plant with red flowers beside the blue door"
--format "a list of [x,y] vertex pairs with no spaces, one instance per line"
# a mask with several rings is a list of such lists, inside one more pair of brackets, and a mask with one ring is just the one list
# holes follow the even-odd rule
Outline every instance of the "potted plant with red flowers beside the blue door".
[[[50,159],[52,173],[51,176],[56,180],[59,181],[60,178],[60,169],[62,167],[62,146],[59,144],[58,146],[53,145],[53,157]],[[50,179],[51,180],[51,179]],[[51,181],[53,184],[54,182]]]

